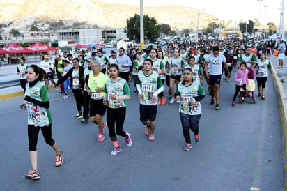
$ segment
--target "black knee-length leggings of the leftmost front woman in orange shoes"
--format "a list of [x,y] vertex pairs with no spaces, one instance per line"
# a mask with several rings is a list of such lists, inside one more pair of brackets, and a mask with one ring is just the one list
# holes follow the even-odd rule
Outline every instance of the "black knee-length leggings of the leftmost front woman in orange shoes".
[[52,139],[52,124],[44,127],[35,127],[34,125],[28,125],[28,139],[29,139],[29,151],[37,150],[37,142],[39,131],[42,131],[42,135],[45,139],[46,144],[53,146],[55,141]]

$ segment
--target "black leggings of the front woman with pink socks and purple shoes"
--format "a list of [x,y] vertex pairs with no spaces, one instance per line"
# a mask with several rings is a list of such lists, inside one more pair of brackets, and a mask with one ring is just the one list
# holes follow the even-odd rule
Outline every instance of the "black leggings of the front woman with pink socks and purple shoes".
[[[125,107],[120,107],[116,109],[111,109],[107,107],[107,125],[109,128],[109,137],[111,141],[116,141],[116,135],[120,135],[121,137],[127,137],[125,132],[123,131],[123,123],[125,122]],[[115,132],[116,125],[116,132]]]

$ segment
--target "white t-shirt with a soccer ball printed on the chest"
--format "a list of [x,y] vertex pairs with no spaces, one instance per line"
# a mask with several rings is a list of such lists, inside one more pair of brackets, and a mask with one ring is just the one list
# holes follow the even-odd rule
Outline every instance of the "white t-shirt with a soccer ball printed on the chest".
[[210,75],[222,75],[222,64],[226,62],[226,58],[222,54],[215,56],[213,53],[209,54],[205,60],[209,63]]

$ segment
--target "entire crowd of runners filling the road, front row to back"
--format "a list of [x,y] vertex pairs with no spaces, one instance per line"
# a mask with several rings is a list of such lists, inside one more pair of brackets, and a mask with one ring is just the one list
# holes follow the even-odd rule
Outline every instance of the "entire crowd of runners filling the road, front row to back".
[[[46,143],[56,152],[56,166],[63,162],[63,151],[52,139],[52,119],[49,114],[48,79],[54,84],[63,99],[68,99],[68,89],[74,95],[77,114],[75,119],[88,123],[88,119],[98,126],[97,141],[105,139],[103,129],[107,126],[109,138],[114,146],[111,155],[121,152],[116,135],[125,139],[127,147],[132,146],[130,133],[123,130],[127,100],[130,99],[130,86],[139,98],[140,121],[145,126],[145,134],[150,141],[155,140],[157,105],[174,102],[179,104],[185,146],[192,148],[190,130],[195,142],[199,142],[199,121],[201,100],[205,98],[203,86],[207,86],[210,105],[219,110],[220,86],[222,80],[231,80],[235,72],[235,93],[230,99],[244,102],[246,97],[254,97],[256,78],[257,96],[265,100],[265,84],[272,71],[272,63],[267,59],[277,54],[279,69],[283,68],[286,43],[279,39],[277,45],[263,40],[256,43],[245,40],[199,40],[198,43],[169,44],[166,47],[131,48],[111,51],[109,55],[101,50],[91,54],[63,53],[55,61],[43,55],[43,61],[27,66],[20,60],[17,72],[24,89],[28,116],[28,135],[32,170],[26,178],[40,179],[37,167],[36,144],[41,129]],[[54,82],[54,72],[58,81]],[[28,82],[28,84],[26,84]],[[164,93],[164,83],[168,95]],[[239,94],[239,95],[238,95]],[[106,113],[107,112],[107,113]],[[103,116],[107,114],[107,123]]]

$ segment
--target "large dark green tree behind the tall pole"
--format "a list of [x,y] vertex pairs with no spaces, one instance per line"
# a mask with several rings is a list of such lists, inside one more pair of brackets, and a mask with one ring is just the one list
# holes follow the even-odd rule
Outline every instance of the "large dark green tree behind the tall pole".
[[[143,33],[150,41],[155,41],[159,37],[159,26],[155,18],[143,15]],[[127,19],[127,38],[130,40],[140,40],[140,16],[134,14],[133,17]]]

